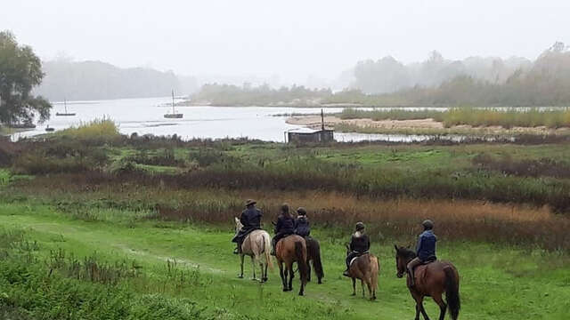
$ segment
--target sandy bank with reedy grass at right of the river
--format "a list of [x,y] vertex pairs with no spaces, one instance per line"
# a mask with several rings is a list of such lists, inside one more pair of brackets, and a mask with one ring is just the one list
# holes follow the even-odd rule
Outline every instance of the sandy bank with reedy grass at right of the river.
[[[321,116],[290,116],[288,124],[303,125],[311,129],[320,129]],[[570,128],[550,129],[545,126],[512,127],[505,129],[501,126],[474,127],[471,125],[454,125],[445,128],[442,122],[432,118],[418,120],[380,120],[370,118],[341,119],[338,116],[324,116],[325,127],[339,132],[360,133],[408,133],[408,134],[570,134]]]

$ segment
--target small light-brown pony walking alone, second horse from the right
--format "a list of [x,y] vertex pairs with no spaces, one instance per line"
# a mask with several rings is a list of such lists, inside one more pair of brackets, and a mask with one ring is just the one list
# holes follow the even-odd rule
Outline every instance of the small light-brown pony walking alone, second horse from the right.
[[[346,251],[346,254],[351,252],[348,244],[346,244]],[[370,299],[376,300],[379,271],[380,261],[372,253],[366,252],[360,257],[354,258],[354,260],[350,262],[350,267],[348,268],[348,275],[353,280],[353,295],[356,295],[356,279],[360,279],[362,297],[366,297],[366,294],[364,293],[364,283],[366,283]]]

